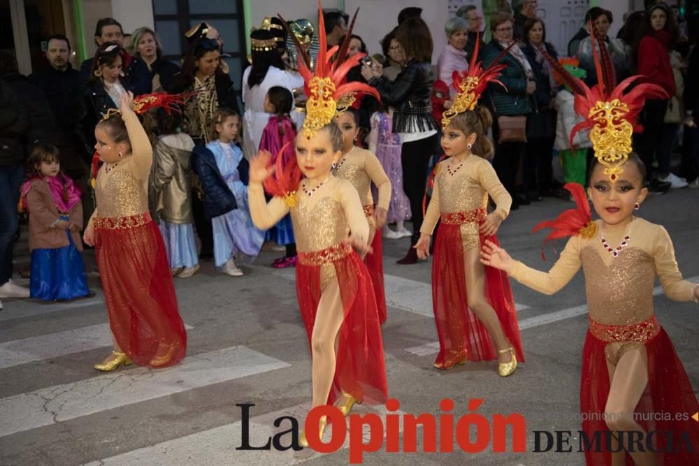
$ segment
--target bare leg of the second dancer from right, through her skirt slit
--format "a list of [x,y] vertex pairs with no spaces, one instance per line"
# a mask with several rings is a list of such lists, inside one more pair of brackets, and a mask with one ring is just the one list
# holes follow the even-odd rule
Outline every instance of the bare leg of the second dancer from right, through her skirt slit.
[[[480,248],[472,247],[463,253],[463,270],[466,272],[466,294],[468,307],[488,330],[497,349],[507,349],[510,342],[503,332],[498,314],[485,298],[485,268],[480,263]],[[498,353],[498,362],[509,363],[512,356],[509,351]]]

